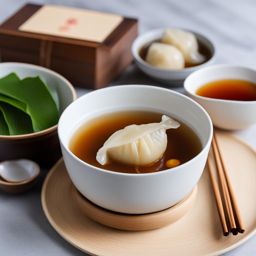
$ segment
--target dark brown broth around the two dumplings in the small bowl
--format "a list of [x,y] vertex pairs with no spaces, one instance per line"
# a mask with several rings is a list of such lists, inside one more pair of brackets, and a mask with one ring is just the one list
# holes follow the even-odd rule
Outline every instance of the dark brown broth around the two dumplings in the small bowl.
[[[153,44],[153,43],[160,43],[160,41],[159,41],[159,40],[156,40],[156,41],[150,42],[150,43],[144,45],[144,46],[139,50],[139,55],[140,55],[140,57],[141,57],[144,61],[146,61],[146,56],[147,56],[147,53],[148,53],[148,49],[149,49],[150,45]],[[206,58],[205,58],[205,61],[203,62],[203,63],[205,63],[206,61],[208,61],[208,60],[212,57],[212,52],[211,52],[211,50],[210,50],[208,47],[206,47],[204,44],[202,44],[202,43],[200,43],[200,42],[198,42],[198,47],[199,47],[199,49],[198,49],[199,52],[200,52],[203,56],[206,57]],[[203,64],[203,63],[194,64],[194,65],[193,65],[193,64],[190,64],[190,63],[185,63],[185,68],[198,66],[198,65],[201,65],[201,64]]]

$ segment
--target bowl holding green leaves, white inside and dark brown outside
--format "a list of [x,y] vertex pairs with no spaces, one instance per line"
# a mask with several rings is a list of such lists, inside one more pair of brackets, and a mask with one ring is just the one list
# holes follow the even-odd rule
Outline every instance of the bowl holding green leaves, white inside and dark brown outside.
[[[15,72],[20,78],[40,76],[49,87],[57,91],[60,100],[60,113],[76,99],[76,92],[71,83],[49,69],[23,63],[0,64],[0,77],[11,72]],[[0,161],[26,158],[48,167],[60,156],[57,125],[30,134],[0,136]]]

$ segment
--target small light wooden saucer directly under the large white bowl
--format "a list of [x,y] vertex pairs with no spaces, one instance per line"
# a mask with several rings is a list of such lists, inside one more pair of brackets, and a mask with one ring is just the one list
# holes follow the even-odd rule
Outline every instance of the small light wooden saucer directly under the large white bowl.
[[[59,163],[64,169],[63,162]],[[72,194],[81,211],[90,219],[105,226],[130,231],[145,231],[164,227],[182,218],[194,205],[197,187],[192,193],[178,204],[164,211],[150,214],[122,214],[108,211],[101,208],[85,197],[83,197],[74,187]]]

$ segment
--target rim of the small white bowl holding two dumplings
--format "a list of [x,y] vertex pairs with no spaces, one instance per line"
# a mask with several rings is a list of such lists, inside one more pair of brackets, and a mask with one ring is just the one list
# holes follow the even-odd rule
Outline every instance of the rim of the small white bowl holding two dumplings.
[[[144,65],[150,69],[155,69],[155,70],[159,70],[162,72],[168,72],[168,73],[176,73],[176,72],[182,72],[182,71],[193,72],[193,71],[196,71],[198,68],[202,68],[202,67],[206,66],[207,64],[211,63],[215,59],[216,47],[215,47],[215,44],[213,43],[212,39],[209,39],[208,37],[202,35],[201,33],[197,32],[197,31],[194,31],[194,30],[185,29],[185,28],[181,28],[181,27],[172,27],[172,28],[182,29],[184,31],[193,33],[196,36],[197,40],[198,40],[198,38],[200,38],[200,39],[203,39],[204,41],[206,41],[207,43],[206,44],[203,43],[203,44],[206,48],[208,48],[211,51],[211,57],[208,60],[206,60],[205,62],[203,62],[202,64],[198,64],[198,65],[195,65],[193,67],[188,67],[188,68],[185,67],[182,69],[163,69],[163,68],[159,68],[159,67],[150,65],[149,63],[147,63],[145,60],[143,60],[141,58],[139,51],[144,45],[161,38],[161,35],[165,31],[165,29],[160,28],[160,29],[154,29],[154,30],[148,31],[142,35],[139,35],[135,39],[135,41],[132,44],[132,55],[133,55],[134,59],[136,61],[138,61],[141,65]],[[144,38],[146,36],[149,37],[150,35],[152,35],[150,40],[148,40],[147,42],[144,42],[143,44],[139,44],[139,42],[142,41],[142,38]],[[200,39],[198,41],[200,41]]]

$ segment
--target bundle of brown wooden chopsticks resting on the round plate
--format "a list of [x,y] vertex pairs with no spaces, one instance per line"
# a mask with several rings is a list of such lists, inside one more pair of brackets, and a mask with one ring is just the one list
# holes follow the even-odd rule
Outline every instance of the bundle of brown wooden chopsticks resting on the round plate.
[[209,156],[207,165],[223,228],[223,234],[224,236],[228,236],[230,233],[233,235],[243,233],[245,230],[241,214],[215,134],[213,135],[212,140],[212,153],[215,161],[212,161],[213,159],[210,159],[211,157]]

